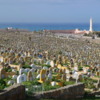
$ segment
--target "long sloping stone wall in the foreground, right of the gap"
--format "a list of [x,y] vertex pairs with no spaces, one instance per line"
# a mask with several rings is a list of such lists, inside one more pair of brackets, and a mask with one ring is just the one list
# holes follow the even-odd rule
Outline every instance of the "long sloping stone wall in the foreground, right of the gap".
[[84,97],[84,84],[78,83],[75,85],[69,85],[61,87],[59,89],[45,91],[42,93],[35,94],[35,97],[40,99],[75,99]]

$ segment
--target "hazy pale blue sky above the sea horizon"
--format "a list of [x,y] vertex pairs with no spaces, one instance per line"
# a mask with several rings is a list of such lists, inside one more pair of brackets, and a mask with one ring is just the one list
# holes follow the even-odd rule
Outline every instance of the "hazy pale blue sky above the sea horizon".
[[100,23],[100,0],[0,0],[0,23]]

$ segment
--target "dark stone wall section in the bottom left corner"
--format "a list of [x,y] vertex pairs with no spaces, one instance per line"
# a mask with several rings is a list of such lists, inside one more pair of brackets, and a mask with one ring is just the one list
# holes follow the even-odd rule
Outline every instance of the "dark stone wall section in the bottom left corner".
[[0,100],[25,100],[25,87],[20,84],[0,90]]

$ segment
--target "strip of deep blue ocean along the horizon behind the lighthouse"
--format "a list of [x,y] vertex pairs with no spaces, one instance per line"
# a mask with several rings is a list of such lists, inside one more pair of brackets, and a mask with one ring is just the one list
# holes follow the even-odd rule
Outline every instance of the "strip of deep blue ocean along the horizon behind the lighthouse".
[[[39,30],[67,30],[67,29],[81,29],[89,30],[89,23],[0,23],[0,29],[7,27],[13,27],[17,29],[28,29],[30,31]],[[100,31],[100,24],[93,24],[93,30]]]

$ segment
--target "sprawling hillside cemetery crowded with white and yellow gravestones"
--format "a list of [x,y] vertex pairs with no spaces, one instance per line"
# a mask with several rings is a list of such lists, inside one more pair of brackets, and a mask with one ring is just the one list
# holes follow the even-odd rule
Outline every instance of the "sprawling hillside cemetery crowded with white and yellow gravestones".
[[31,95],[82,83],[100,91],[99,43],[44,32],[2,33],[0,41],[0,90],[21,84]]

